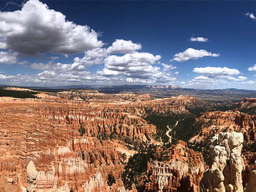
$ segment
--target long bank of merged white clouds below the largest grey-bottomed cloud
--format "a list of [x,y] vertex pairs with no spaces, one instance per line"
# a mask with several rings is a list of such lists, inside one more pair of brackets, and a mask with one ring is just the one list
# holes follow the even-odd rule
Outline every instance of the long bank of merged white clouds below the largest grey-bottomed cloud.
[[[83,58],[75,57],[73,63],[62,64],[54,63],[54,61],[33,63],[30,65],[31,68],[44,70],[34,78],[37,79],[37,82],[41,83],[46,83],[48,79],[51,79],[54,83],[60,82],[60,80],[56,80],[60,78],[61,82],[65,83],[70,83],[71,81],[73,83],[87,83],[90,81],[96,84],[101,82],[173,84],[176,80],[170,73],[161,71],[161,68],[158,66],[153,66],[153,64],[159,63],[160,55],[136,52],[134,50],[140,48],[141,45],[133,44],[132,41],[116,39],[115,42],[109,48],[89,50],[84,53]],[[120,42],[124,47],[120,45]],[[112,51],[128,53],[120,56],[113,54]],[[92,74],[86,69],[86,67],[101,63],[104,64],[104,67],[102,70],[98,70],[97,74]],[[169,69],[176,68],[172,65],[166,65],[165,67]]]

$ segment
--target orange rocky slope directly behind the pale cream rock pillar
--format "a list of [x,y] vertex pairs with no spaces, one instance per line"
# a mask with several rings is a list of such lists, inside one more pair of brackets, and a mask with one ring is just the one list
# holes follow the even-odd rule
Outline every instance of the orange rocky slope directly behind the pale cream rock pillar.
[[242,185],[245,188],[248,185],[251,169],[254,168],[256,160],[256,116],[235,109],[226,112],[205,112],[196,120],[200,122],[201,127],[198,133],[189,140],[189,143],[192,143],[194,149],[202,151],[205,159],[207,159],[208,151],[211,150],[211,147],[209,148],[211,145],[210,138],[215,134],[236,131],[242,135],[244,142],[241,153],[245,165],[242,172]]

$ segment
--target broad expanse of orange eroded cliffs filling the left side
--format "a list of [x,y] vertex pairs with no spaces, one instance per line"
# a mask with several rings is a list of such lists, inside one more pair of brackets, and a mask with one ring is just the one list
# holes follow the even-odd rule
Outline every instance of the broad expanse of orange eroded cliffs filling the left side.
[[[185,105],[197,102],[191,96],[133,95],[127,101],[128,95],[122,95],[116,101],[117,96],[108,100],[106,94],[89,94],[91,101],[45,93],[40,99],[1,99],[0,177],[5,183],[18,186],[16,191],[124,192],[121,174],[136,153],[127,138],[155,142],[156,127],[142,117],[166,110],[188,113]],[[109,173],[116,180],[112,186],[106,182]],[[131,191],[136,192],[135,185]]]

